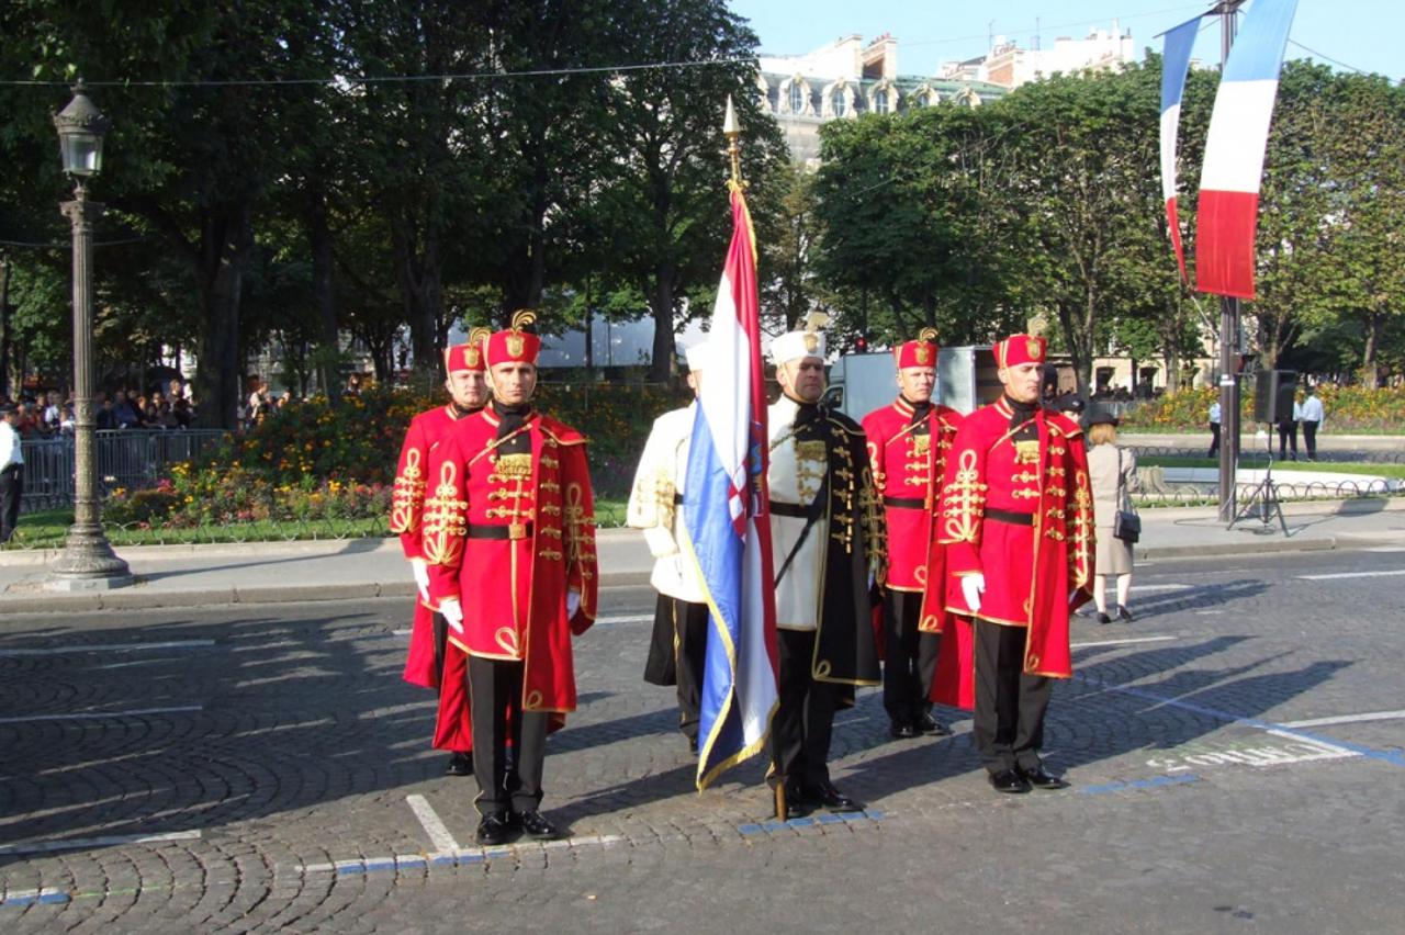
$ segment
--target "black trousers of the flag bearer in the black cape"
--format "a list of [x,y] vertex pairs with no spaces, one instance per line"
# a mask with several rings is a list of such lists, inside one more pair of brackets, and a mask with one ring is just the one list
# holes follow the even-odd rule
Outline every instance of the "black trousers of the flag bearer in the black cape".
[[773,779],[813,789],[829,783],[829,737],[839,685],[813,677],[815,630],[776,630],[780,706],[771,722]]

